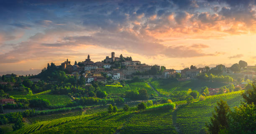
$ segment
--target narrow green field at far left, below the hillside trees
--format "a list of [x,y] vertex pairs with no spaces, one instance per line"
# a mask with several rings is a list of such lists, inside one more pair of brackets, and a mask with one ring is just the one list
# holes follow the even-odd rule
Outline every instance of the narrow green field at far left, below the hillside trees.
[[27,98],[27,99],[35,99],[42,98],[48,99],[51,105],[55,104],[67,104],[71,101],[71,98],[67,95],[13,95],[15,98]]

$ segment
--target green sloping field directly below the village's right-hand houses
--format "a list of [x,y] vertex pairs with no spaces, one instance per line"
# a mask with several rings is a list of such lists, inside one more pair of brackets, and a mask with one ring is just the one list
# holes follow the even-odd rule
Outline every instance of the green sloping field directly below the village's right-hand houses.
[[171,81],[169,79],[158,79],[152,80],[151,85],[160,92],[163,96],[168,96],[170,93],[174,91],[184,91],[189,88],[192,90],[199,90],[201,87],[207,86],[208,88],[217,88],[223,87],[225,83],[217,83],[217,82],[205,82],[200,80],[187,80],[187,81]]

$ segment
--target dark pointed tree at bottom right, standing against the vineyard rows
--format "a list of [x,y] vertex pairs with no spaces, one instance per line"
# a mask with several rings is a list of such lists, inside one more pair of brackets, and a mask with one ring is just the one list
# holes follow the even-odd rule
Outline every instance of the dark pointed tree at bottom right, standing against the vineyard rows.
[[215,106],[215,113],[212,113],[210,123],[206,125],[208,131],[211,134],[218,134],[220,129],[228,127],[228,114],[230,109],[227,102],[222,99],[220,102],[217,101],[217,106]]

